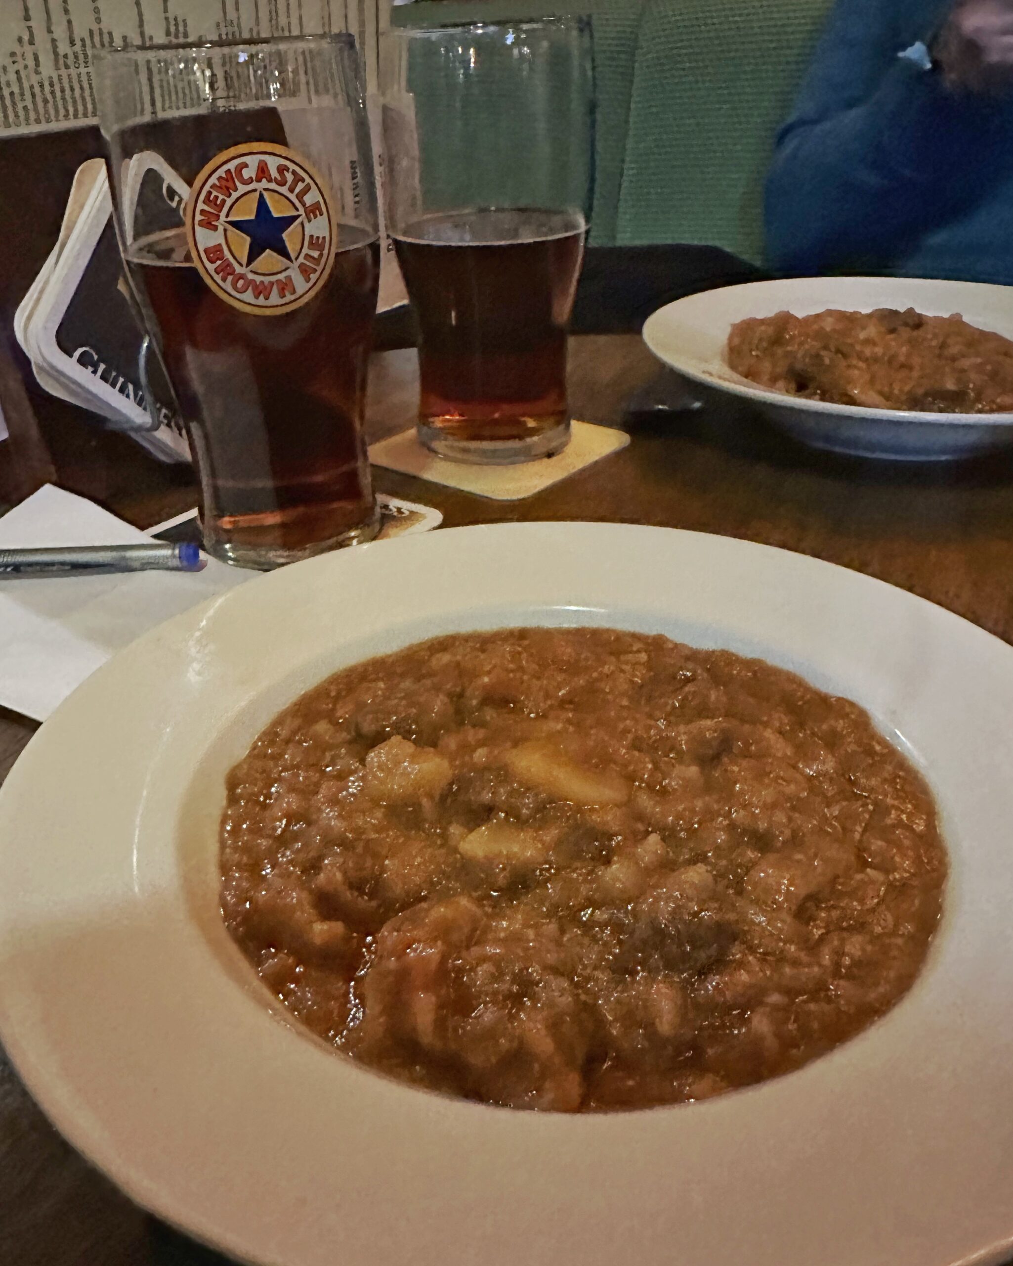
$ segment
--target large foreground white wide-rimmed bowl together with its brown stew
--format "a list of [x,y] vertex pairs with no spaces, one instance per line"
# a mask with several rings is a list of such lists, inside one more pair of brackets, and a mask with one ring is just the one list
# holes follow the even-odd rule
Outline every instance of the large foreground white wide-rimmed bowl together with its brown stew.
[[0,1036],[264,1266],[1000,1260],[1010,715],[1004,643],[747,542],[282,568],[19,760]]

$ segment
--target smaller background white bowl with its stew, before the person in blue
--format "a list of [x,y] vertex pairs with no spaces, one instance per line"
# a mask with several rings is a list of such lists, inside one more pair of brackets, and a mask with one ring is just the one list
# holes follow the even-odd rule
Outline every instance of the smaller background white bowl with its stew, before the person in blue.
[[668,304],[644,338],[679,373],[816,448],[946,461],[1013,443],[1009,286],[756,281]]

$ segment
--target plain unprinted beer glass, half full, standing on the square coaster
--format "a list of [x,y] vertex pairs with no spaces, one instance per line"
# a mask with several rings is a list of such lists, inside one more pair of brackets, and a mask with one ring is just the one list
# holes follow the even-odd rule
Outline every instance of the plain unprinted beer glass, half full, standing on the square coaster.
[[582,18],[384,37],[388,230],[419,322],[419,438],[507,465],[569,442],[567,328],[592,195]]

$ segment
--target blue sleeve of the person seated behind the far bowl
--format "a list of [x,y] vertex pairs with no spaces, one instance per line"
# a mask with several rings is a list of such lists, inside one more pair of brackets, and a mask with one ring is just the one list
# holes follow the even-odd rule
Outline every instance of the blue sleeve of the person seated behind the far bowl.
[[989,162],[999,108],[902,58],[912,39],[897,15],[884,0],[837,0],[768,177],[779,272],[885,266],[1002,175]]

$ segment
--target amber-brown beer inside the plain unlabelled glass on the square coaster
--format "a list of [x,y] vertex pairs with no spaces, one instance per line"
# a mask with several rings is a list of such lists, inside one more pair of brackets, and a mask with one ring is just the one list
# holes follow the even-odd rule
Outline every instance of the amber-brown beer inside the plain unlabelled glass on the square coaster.
[[563,448],[583,216],[433,214],[396,233],[395,247],[420,325],[422,439],[438,452],[441,439],[510,453],[541,437],[540,454]]

